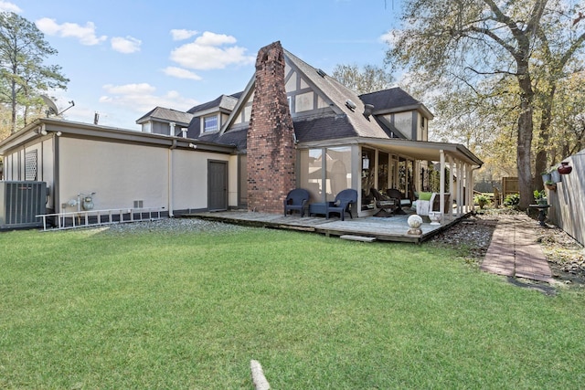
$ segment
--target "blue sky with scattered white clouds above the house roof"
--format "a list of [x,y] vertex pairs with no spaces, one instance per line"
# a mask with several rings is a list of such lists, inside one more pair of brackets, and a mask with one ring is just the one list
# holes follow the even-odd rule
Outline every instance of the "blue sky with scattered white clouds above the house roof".
[[400,0],[0,0],[34,22],[70,79],[55,91],[70,121],[137,130],[156,106],[186,111],[243,90],[258,49],[282,47],[331,73],[337,64],[383,66]]

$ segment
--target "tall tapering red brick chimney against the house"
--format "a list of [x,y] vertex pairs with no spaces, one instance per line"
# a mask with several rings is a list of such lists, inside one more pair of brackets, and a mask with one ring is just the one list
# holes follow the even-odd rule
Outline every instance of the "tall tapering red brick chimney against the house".
[[256,58],[247,149],[248,209],[282,213],[282,202],[295,186],[296,153],[284,89],[284,53],[278,41],[262,47]]

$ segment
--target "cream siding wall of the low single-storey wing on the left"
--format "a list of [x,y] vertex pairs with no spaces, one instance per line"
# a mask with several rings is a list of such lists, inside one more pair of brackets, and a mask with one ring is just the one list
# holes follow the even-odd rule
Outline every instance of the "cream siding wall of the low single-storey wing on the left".
[[[41,128],[48,135],[39,134]],[[229,206],[238,206],[238,157],[231,148],[205,143],[194,148],[191,141],[172,138],[38,120],[5,142],[12,143],[2,151],[5,179],[22,180],[36,168],[36,180],[48,185],[48,214],[77,212],[80,196],[95,193],[94,210],[139,204],[174,215],[207,209],[207,170],[197,167],[223,161],[229,167]]]

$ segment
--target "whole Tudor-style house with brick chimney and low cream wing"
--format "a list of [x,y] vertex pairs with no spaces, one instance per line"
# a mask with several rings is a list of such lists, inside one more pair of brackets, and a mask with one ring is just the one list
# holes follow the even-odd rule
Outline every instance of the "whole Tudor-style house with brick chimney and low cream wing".
[[482,162],[463,145],[428,142],[431,119],[404,90],[358,96],[274,42],[261,48],[239,93],[186,112],[157,107],[137,121],[143,132],[38,120],[0,142],[0,155],[6,180],[24,180],[37,164],[56,213],[90,192],[96,209],[282,213],[285,195],[303,187],[312,202],[355,188],[358,214],[370,216],[371,187],[420,190],[428,162],[438,162],[452,168],[441,189],[461,200],[461,214],[473,206],[473,170]]

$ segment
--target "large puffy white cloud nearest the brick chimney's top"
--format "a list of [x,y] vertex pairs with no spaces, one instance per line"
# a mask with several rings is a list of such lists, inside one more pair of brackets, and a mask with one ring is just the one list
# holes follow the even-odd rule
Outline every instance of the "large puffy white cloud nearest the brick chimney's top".
[[253,64],[255,58],[245,55],[246,48],[222,47],[234,43],[235,37],[206,31],[194,42],[176,47],[171,52],[171,59],[188,69],[224,69],[231,64]]

